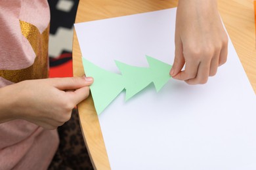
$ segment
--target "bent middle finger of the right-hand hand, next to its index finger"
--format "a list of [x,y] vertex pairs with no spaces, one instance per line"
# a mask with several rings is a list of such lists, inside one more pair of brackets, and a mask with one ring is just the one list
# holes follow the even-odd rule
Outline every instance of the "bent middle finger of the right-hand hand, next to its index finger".
[[198,74],[196,75],[196,78],[186,80],[186,83],[205,84],[209,77],[210,65],[211,63],[209,62],[205,62],[205,63],[200,62],[200,65],[198,67]]

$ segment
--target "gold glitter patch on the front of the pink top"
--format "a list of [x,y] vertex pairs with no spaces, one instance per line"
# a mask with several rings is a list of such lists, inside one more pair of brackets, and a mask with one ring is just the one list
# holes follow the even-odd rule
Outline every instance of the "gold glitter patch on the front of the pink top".
[[38,78],[47,78],[49,68],[48,42],[49,25],[43,33],[40,33],[35,25],[20,21],[22,35],[28,39],[33,51],[35,52],[34,63],[26,68],[19,70],[0,70],[0,76],[11,82],[20,82],[22,80],[31,80]]

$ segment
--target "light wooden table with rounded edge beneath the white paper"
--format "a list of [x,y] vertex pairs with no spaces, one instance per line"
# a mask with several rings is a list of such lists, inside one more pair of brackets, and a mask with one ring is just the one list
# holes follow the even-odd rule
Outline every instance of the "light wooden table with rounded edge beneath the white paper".
[[[80,0],[75,23],[177,7],[177,0]],[[255,22],[252,0],[219,0],[219,12],[256,93]],[[81,51],[74,33],[74,76],[84,75]],[[238,78],[239,80],[239,78]],[[83,136],[95,169],[110,169],[92,97],[79,103]]]

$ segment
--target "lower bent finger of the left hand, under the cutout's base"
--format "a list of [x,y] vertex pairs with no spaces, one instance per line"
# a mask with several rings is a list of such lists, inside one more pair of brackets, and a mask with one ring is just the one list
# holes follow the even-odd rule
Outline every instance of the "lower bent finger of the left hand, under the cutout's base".
[[86,99],[89,96],[90,88],[89,86],[85,86],[83,88],[79,88],[75,90],[74,92],[66,92],[70,97],[70,100],[74,102],[74,105],[77,105],[84,99]]

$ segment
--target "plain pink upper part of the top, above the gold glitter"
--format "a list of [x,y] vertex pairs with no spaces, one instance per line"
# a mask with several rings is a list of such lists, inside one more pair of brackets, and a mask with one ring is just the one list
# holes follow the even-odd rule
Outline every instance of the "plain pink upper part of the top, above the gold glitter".
[[0,1],[0,8],[0,70],[29,67],[35,52],[21,33],[20,20],[35,25],[42,32],[50,21],[48,3],[4,0]]

